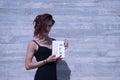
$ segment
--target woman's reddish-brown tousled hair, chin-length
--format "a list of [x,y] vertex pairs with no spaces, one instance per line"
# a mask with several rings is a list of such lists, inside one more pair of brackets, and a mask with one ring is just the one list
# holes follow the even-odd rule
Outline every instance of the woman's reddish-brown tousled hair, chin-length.
[[34,25],[34,36],[44,36],[48,23],[52,21],[52,26],[55,21],[51,14],[45,13],[42,15],[36,16],[33,23]]

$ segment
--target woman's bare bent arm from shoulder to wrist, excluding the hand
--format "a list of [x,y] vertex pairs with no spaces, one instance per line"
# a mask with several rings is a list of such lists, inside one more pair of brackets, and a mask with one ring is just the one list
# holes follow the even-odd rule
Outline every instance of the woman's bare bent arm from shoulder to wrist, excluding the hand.
[[30,42],[27,48],[27,54],[25,58],[25,68],[26,70],[34,69],[45,64],[45,60],[39,62],[32,62],[37,45],[34,42]]

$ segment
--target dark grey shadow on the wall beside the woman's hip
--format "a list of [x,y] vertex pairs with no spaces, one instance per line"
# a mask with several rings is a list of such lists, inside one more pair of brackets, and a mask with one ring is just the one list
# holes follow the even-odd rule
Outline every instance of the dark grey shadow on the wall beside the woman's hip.
[[70,80],[71,71],[67,63],[62,60],[57,66],[58,80]]

